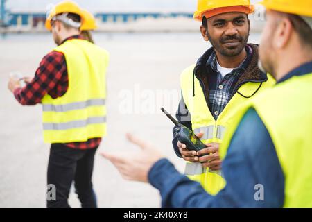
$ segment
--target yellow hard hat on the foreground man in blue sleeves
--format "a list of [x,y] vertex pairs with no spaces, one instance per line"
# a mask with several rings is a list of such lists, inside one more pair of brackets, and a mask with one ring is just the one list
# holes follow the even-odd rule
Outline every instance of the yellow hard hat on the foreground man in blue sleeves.
[[312,17],[311,0],[263,0],[261,4],[271,10]]

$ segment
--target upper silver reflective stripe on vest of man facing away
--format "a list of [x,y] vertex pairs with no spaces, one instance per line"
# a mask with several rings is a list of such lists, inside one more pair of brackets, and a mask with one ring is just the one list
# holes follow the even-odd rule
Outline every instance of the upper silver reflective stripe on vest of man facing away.
[[43,104],[44,112],[67,112],[71,110],[81,110],[94,105],[105,105],[105,99],[89,99],[83,102],[68,103],[65,105]]

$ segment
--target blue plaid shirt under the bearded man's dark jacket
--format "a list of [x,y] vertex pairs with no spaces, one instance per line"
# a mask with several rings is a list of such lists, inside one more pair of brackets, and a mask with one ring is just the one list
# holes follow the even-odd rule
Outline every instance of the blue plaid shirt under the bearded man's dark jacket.
[[220,113],[224,110],[225,106],[232,98],[235,84],[239,77],[248,67],[250,59],[252,58],[252,48],[246,46],[247,57],[245,60],[237,67],[233,69],[232,72],[225,75],[224,78],[217,69],[216,53],[211,53],[207,60],[207,69],[209,69],[209,110],[217,119]]

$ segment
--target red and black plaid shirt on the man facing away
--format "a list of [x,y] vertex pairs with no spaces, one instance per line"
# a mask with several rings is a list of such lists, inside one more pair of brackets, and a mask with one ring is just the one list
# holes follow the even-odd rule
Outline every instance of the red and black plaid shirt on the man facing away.
[[[83,37],[74,35],[64,40],[64,42],[71,39],[83,39]],[[40,62],[31,83],[23,88],[15,89],[14,96],[21,105],[35,105],[41,103],[46,94],[56,99],[63,96],[67,89],[68,74],[64,54],[51,51]],[[100,142],[101,138],[92,138],[87,142],[72,142],[64,145],[70,148],[87,149],[97,147]]]

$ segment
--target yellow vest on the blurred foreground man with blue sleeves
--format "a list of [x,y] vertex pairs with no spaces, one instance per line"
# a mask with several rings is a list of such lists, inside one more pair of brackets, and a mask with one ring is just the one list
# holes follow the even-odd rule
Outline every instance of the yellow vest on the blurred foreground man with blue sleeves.
[[220,147],[224,158],[243,115],[254,108],[268,129],[284,173],[284,207],[312,207],[311,101],[312,73],[279,83],[241,108]]

